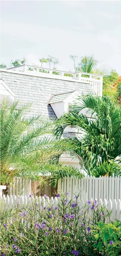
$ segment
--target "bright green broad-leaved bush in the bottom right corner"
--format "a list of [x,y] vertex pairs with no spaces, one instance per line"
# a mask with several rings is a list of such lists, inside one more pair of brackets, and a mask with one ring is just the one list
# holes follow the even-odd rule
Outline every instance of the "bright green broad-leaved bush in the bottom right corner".
[[[99,222],[94,227],[93,232],[98,242],[98,248],[100,253],[106,253],[109,256],[121,255],[121,222],[116,221],[115,223],[104,224]],[[110,241],[113,243],[110,244]],[[97,247],[97,246],[95,246]]]

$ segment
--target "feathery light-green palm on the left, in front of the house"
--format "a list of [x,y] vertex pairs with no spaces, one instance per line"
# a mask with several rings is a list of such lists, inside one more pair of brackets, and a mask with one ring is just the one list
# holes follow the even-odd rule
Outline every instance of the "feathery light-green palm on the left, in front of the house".
[[42,180],[41,173],[48,172],[54,185],[65,175],[82,177],[79,169],[58,162],[62,153],[73,153],[72,141],[53,136],[56,121],[41,116],[27,118],[30,107],[20,107],[18,101],[10,107],[6,99],[1,104],[1,184],[7,184],[8,190],[14,176]]

